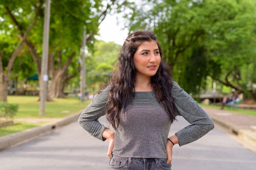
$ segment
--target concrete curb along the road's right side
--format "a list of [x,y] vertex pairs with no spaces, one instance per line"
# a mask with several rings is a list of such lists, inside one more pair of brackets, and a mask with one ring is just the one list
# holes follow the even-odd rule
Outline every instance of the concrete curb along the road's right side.
[[211,116],[211,119],[213,120],[213,122],[216,122],[220,126],[231,131],[231,133],[233,133],[234,135],[237,135],[238,137],[245,139],[247,142],[256,147],[256,133],[253,133],[250,130],[238,129],[233,124],[222,121],[219,118],[216,118],[215,116]]

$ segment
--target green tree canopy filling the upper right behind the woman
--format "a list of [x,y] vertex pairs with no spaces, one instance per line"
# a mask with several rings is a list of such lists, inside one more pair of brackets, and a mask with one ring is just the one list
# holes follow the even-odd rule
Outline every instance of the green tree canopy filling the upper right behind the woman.
[[[207,76],[225,83],[221,79],[223,75],[229,77],[229,72],[236,72],[237,76],[238,68],[255,58],[255,54],[252,55],[256,25],[254,0],[144,0],[139,3],[141,5],[133,6],[132,11],[126,13],[130,21],[126,26],[130,31],[142,28],[156,33],[174,80],[189,93],[199,93]],[[226,85],[231,86],[229,83]],[[238,84],[232,85],[240,92],[249,92],[247,87],[243,86],[242,90]]]

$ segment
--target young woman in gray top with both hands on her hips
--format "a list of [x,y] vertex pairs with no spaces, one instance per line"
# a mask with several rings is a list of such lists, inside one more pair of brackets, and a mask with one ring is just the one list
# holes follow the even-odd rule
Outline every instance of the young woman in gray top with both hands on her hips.
[[[98,121],[104,115],[115,131]],[[178,115],[191,125],[168,137]],[[108,139],[109,170],[171,170],[175,144],[193,142],[214,128],[202,107],[172,80],[151,31],[126,38],[110,83],[81,113],[79,124]]]

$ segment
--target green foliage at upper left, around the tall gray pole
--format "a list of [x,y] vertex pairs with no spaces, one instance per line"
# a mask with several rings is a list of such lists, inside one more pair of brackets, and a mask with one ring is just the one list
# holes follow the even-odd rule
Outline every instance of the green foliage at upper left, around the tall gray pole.
[[[43,5],[36,17],[36,24],[30,30],[26,44],[20,51],[11,72],[10,79],[15,80],[16,84],[18,81],[24,82],[28,76],[40,74],[46,5],[44,0],[1,0],[0,2],[0,51],[3,51],[4,69],[7,68],[8,60],[17,44],[20,43],[25,30],[35,19],[39,2],[43,2]],[[49,62],[53,65],[49,66],[49,76],[54,77],[54,74],[57,73],[63,76],[61,77],[63,82],[52,80],[53,87],[58,83],[62,83],[61,87],[64,87],[66,82],[69,85],[74,85],[73,87],[79,85],[81,37],[84,29],[88,51],[94,52],[94,36],[98,35],[99,24],[104,20],[106,14],[111,11],[123,11],[128,4],[125,0],[51,1],[49,56],[53,56],[51,58],[53,60]]]

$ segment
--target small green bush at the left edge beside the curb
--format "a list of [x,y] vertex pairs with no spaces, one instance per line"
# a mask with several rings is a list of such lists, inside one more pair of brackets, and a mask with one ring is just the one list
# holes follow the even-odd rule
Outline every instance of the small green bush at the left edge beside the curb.
[[5,118],[6,120],[13,118],[18,111],[18,104],[0,102],[0,118]]

